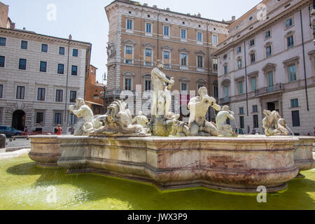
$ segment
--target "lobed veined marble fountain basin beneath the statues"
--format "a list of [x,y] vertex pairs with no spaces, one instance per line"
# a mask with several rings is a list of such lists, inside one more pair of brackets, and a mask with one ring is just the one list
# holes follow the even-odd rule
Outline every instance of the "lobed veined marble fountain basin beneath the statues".
[[[210,188],[257,193],[287,188],[313,169],[314,137],[30,137],[29,158],[69,174],[93,173],[152,183],[160,190]],[[91,183],[92,184],[92,183]]]

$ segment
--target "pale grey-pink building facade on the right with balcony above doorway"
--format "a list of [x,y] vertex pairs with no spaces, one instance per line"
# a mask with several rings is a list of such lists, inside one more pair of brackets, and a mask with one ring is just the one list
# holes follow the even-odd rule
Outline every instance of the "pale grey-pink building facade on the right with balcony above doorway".
[[264,110],[276,110],[295,134],[315,131],[312,1],[265,0],[228,27],[219,45],[218,92],[244,133],[263,133]]

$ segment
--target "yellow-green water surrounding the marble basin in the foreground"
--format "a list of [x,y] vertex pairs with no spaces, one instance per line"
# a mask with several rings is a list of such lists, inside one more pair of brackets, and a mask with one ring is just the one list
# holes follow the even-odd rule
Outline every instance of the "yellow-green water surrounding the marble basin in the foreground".
[[[315,209],[315,169],[288,182],[284,193],[230,195],[195,189],[161,193],[155,187],[94,174],[67,175],[36,167],[27,155],[0,160],[0,209]],[[56,202],[48,203],[54,187]]]

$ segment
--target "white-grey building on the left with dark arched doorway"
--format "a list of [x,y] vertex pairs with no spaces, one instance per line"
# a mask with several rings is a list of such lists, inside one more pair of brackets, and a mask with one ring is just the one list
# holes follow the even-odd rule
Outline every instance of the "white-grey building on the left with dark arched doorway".
[[69,106],[84,97],[92,45],[0,28],[0,123],[29,132],[65,133]]

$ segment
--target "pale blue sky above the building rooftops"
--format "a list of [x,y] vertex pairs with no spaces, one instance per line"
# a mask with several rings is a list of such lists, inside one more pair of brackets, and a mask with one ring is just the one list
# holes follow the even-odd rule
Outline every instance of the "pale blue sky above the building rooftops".
[[[98,68],[97,80],[103,81],[107,72],[106,45],[109,34],[109,21],[104,7],[113,0],[0,0],[10,6],[9,17],[15,28],[35,31],[37,34],[68,38],[92,43],[91,64]],[[261,0],[148,0],[148,6],[170,8],[179,13],[197,14],[213,20],[231,20],[232,15],[241,17]],[[55,18],[50,14],[55,6]],[[50,19],[49,19],[50,18]],[[104,82],[105,83],[105,82]]]

